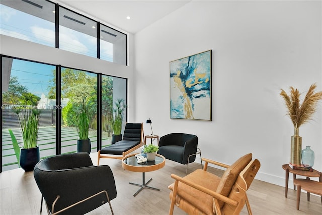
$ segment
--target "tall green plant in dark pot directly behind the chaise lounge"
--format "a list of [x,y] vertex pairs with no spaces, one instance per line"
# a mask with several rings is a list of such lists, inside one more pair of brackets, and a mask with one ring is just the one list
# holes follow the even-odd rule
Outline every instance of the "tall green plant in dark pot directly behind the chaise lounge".
[[124,99],[117,99],[114,103],[115,108],[113,108],[113,116],[112,116],[112,144],[122,140],[122,123],[124,117],[124,110],[126,109],[127,105],[125,105]]

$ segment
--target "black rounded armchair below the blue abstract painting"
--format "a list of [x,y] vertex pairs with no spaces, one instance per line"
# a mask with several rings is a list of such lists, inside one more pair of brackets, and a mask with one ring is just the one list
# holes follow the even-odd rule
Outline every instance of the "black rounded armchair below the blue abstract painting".
[[170,133],[160,138],[159,147],[158,154],[163,155],[166,159],[187,164],[186,175],[189,163],[196,160],[197,154],[200,154],[201,168],[203,168],[201,151],[198,148],[198,137],[196,135]]

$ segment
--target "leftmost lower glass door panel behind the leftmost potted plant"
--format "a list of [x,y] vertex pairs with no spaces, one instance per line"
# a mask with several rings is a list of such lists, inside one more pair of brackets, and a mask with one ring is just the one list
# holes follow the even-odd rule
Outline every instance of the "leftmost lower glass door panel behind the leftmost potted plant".
[[[2,58],[2,168],[19,167],[23,145],[18,115],[15,109],[36,106],[40,113],[38,145],[40,157],[56,152],[56,104],[49,99],[50,80],[55,78],[56,66],[26,60]],[[56,85],[52,85],[56,90]]]

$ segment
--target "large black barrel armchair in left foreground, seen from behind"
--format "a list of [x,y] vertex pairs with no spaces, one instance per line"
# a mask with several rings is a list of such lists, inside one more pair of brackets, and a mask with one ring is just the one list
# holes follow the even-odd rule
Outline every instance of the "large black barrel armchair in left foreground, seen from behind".
[[93,166],[88,153],[46,158],[34,168],[34,177],[48,214],[85,214],[116,198],[109,166]]

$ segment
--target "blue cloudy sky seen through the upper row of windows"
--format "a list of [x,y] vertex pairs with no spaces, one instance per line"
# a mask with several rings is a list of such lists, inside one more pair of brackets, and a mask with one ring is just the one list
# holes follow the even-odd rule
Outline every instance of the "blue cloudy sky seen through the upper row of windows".
[[[55,24],[0,4],[0,34],[55,47]],[[54,13],[48,16],[55,16]],[[60,48],[96,57],[96,37],[59,26]],[[113,61],[113,44],[101,40],[102,59]]]

